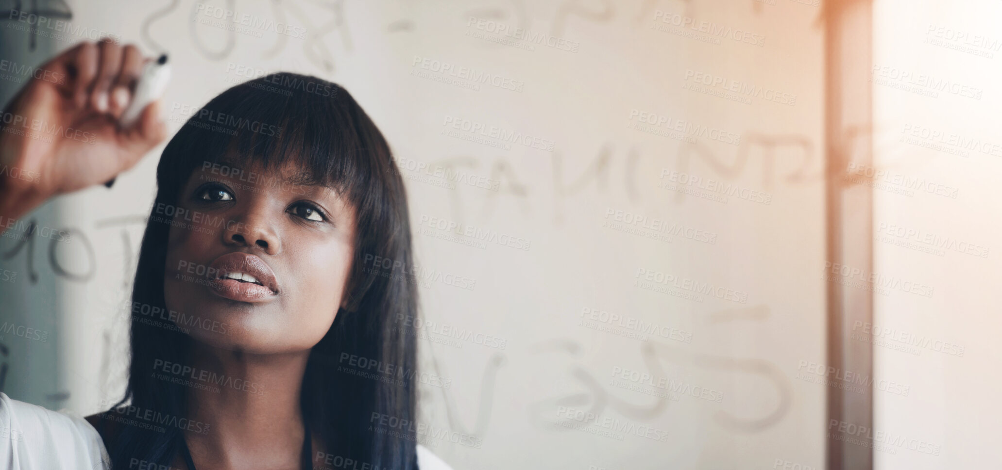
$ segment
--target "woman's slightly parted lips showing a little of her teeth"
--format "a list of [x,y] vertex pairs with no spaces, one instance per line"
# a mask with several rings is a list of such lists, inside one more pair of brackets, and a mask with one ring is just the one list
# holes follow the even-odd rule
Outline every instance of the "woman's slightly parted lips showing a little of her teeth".
[[[239,302],[268,302],[279,295],[279,282],[268,263],[247,253],[226,253],[209,265],[216,273],[209,289],[215,295]],[[228,278],[248,275],[262,285]]]

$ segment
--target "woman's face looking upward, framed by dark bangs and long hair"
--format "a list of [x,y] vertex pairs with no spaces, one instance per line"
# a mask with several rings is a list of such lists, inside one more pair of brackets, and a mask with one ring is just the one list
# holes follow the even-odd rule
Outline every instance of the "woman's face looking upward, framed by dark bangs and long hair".
[[163,294],[174,323],[211,346],[303,351],[327,333],[345,296],[355,213],[331,188],[297,183],[287,164],[204,164],[173,213]]

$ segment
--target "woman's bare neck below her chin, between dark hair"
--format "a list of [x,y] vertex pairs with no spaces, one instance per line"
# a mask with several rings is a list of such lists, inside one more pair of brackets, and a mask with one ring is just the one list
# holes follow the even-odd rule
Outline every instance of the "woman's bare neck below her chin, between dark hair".
[[195,465],[299,469],[310,351],[246,354],[193,343],[184,434]]

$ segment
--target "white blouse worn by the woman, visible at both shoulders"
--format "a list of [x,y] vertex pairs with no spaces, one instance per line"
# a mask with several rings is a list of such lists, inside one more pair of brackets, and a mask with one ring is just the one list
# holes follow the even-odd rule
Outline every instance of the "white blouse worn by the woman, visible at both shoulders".
[[[11,400],[0,392],[0,470],[108,470],[104,442],[87,420]],[[418,444],[421,470],[452,470]]]

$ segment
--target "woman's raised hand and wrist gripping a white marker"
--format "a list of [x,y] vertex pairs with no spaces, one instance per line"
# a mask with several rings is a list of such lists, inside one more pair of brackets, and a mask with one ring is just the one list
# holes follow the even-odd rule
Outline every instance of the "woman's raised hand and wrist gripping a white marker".
[[166,137],[159,101],[119,127],[145,60],[133,45],[102,40],[40,67],[0,119],[0,216],[108,181]]

